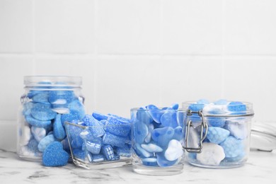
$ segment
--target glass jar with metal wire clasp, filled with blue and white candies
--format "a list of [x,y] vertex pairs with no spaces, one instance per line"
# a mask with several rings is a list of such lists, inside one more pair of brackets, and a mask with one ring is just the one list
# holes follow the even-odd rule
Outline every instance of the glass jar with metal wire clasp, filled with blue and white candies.
[[185,102],[183,110],[188,163],[205,168],[234,168],[246,163],[254,114],[251,103]]

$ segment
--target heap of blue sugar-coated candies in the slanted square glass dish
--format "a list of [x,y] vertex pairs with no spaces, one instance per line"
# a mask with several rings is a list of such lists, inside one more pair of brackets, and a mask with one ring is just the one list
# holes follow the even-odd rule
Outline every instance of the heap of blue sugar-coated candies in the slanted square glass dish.
[[74,159],[85,163],[117,161],[130,157],[130,120],[94,112],[66,124]]

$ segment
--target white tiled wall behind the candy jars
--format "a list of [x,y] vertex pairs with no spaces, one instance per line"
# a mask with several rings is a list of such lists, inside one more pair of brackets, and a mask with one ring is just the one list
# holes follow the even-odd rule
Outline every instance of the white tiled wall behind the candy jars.
[[[275,121],[276,1],[0,0],[0,148],[23,76],[82,76],[87,113],[207,98]],[[8,137],[8,141],[7,138]]]

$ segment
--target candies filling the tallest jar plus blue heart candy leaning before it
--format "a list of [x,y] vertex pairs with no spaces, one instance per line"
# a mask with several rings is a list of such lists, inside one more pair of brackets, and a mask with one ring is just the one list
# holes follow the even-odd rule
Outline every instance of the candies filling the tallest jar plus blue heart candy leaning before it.
[[[81,120],[84,105],[69,87],[42,84],[46,87],[30,90],[25,97],[20,119],[25,123],[19,129],[18,154],[25,159],[40,160],[42,156],[45,166],[63,166],[69,158],[64,122]],[[54,161],[57,158],[59,161]]]

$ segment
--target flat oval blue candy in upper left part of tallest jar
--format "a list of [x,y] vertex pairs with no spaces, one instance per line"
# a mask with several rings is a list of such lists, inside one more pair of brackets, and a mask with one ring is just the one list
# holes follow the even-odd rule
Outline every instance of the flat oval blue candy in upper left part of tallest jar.
[[44,103],[35,103],[33,105],[32,110],[30,110],[30,114],[37,120],[47,121],[52,120],[56,117],[57,113],[55,113],[51,109],[51,105]]

